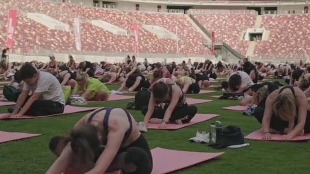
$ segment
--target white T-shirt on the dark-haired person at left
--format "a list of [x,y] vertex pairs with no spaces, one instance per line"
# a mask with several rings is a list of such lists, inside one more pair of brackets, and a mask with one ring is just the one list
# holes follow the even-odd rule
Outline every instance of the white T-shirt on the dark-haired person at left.
[[62,87],[57,78],[47,72],[39,73],[39,79],[37,84],[30,86],[24,83],[23,90],[32,91],[33,93],[42,93],[42,100],[51,100],[53,102],[59,102],[65,104],[64,94],[62,92]]

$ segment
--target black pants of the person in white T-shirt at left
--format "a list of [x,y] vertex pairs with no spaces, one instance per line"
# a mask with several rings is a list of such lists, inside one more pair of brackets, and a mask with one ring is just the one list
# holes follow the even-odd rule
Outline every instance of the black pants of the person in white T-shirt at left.
[[[24,102],[24,104],[28,101],[30,96],[28,96]],[[23,104],[23,105],[24,105]],[[44,115],[53,115],[63,113],[65,109],[65,105],[59,102],[53,102],[51,100],[35,100],[30,108],[25,112],[25,115],[29,116],[44,116]]]

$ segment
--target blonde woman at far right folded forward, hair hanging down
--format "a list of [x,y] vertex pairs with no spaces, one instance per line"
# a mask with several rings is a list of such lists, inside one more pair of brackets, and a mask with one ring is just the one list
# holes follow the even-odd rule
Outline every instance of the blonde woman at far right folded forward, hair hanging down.
[[262,123],[265,133],[263,139],[271,139],[270,133],[283,133],[283,139],[310,133],[307,98],[299,88],[293,86],[272,92],[267,97],[265,109],[257,107],[254,115]]

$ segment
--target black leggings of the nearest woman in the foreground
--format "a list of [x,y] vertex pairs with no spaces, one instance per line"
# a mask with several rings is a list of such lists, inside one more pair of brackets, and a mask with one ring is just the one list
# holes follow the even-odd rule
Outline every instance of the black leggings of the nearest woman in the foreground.
[[[49,150],[55,154],[58,144],[64,139],[65,137],[63,136],[55,136],[51,138],[49,141]],[[96,155],[93,163],[96,163],[103,151],[104,148],[99,148],[99,150],[95,153]],[[123,170],[123,173],[149,174],[152,169],[152,154],[146,139],[141,134],[139,138],[132,142],[129,146],[119,149],[107,171],[113,172],[116,170]]]

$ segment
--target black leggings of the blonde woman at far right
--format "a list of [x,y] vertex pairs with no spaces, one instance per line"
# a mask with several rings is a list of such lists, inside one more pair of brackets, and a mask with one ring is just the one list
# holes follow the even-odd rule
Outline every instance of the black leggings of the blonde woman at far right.
[[[256,120],[259,121],[260,123],[263,122],[264,111],[265,109],[262,107],[256,107],[254,110],[253,115],[255,116]],[[295,125],[296,124],[297,124],[297,119],[295,119]],[[281,120],[275,114],[272,115],[272,118],[270,121],[270,128],[277,130],[279,132],[283,132],[288,127],[289,127],[289,122]],[[303,129],[305,133],[310,133],[310,111],[309,110],[307,110],[306,123]]]

